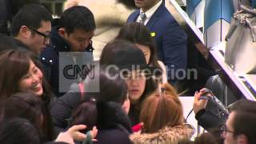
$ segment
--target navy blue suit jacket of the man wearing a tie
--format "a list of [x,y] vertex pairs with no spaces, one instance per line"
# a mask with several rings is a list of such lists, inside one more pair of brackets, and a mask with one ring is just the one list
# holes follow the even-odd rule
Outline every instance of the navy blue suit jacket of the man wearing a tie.
[[[135,22],[139,15],[139,10],[130,14],[127,22]],[[186,50],[186,33],[178,25],[166,9],[164,1],[161,6],[154,12],[146,27],[155,34],[154,42],[157,46],[158,59],[167,66],[169,82],[174,83],[174,70],[186,69],[187,50]],[[179,76],[182,76],[179,74]]]

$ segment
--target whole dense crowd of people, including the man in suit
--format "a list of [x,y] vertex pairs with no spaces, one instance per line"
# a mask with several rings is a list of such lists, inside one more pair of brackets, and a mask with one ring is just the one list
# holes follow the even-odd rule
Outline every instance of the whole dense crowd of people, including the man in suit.
[[[58,19],[38,2],[17,10],[0,35],[0,143],[256,143],[256,102],[238,100],[223,119],[206,109],[205,89],[193,110],[208,133],[192,139],[173,76],[187,67],[186,33],[164,0],[115,2],[138,10],[118,25],[82,1]],[[119,27],[94,47],[99,25]]]

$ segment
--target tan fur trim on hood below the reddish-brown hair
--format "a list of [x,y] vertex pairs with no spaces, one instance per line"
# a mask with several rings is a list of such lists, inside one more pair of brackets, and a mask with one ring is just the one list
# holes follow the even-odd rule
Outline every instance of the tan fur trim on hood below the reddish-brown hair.
[[164,127],[153,134],[132,134],[130,135],[131,141],[134,144],[178,144],[183,140],[189,140],[194,134],[194,128],[189,124]]

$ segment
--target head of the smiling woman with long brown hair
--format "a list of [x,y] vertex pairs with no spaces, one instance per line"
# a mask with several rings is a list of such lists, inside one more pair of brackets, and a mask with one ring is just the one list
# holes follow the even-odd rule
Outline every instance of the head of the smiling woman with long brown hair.
[[28,51],[6,50],[0,54],[0,102],[18,92],[30,92],[50,106],[51,91],[40,62]]

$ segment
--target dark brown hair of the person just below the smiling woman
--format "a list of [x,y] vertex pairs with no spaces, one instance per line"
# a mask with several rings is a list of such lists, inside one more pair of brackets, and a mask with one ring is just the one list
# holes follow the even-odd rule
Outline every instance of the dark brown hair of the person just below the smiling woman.
[[4,120],[26,118],[38,129],[45,141],[54,139],[53,123],[48,112],[42,100],[31,93],[13,94],[3,102]]

